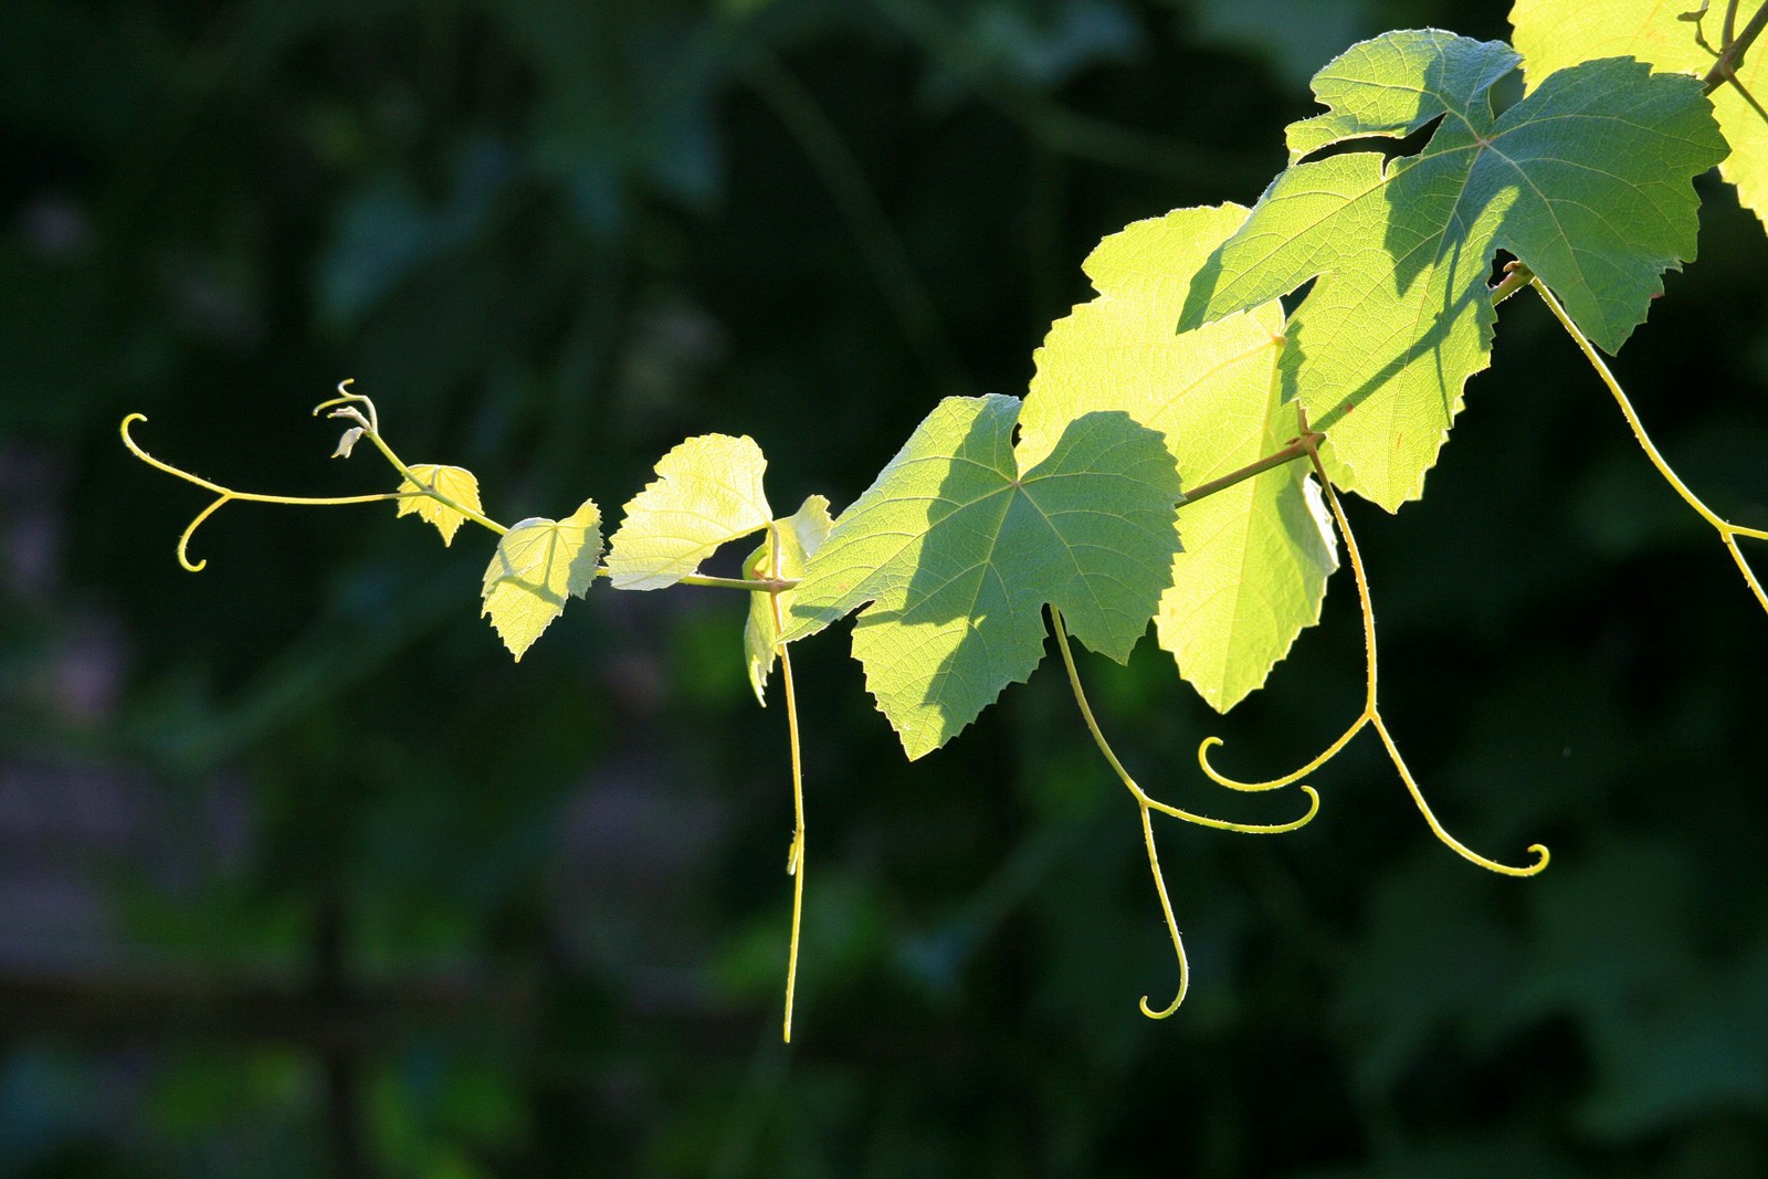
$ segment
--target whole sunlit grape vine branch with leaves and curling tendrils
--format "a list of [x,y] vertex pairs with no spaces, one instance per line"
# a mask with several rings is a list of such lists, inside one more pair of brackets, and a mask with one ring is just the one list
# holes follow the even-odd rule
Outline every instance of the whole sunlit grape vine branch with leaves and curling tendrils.
[[[1526,864],[1490,859],[1432,813],[1381,712],[1368,573],[1340,500],[1354,491],[1397,511],[1423,493],[1510,295],[1531,290],[1545,302],[1648,461],[1715,529],[1768,612],[1740,546],[1768,541],[1768,530],[1720,518],[1683,484],[1602,355],[1644,322],[1662,274],[1694,260],[1694,177],[1722,166],[1743,203],[1768,216],[1768,113],[1752,92],[1768,71],[1749,57],[1768,4],[1741,23],[1738,9],[1736,0],[1724,7],[1715,35],[1704,4],[1676,14],[1642,0],[1600,9],[1519,0],[1517,48],[1439,30],[1349,48],[1315,74],[1326,110],[1289,127],[1289,166],[1252,209],[1179,209],[1107,237],[1086,262],[1096,297],[1050,327],[1025,398],[941,401],[838,516],[820,495],[776,516],[760,447],[702,435],[656,463],[656,481],[626,504],[606,543],[594,500],[560,520],[504,525],[483,511],[470,472],[401,460],[375,403],[350,382],[313,412],[347,426],[334,456],[370,442],[398,474],[394,491],[228,488],[147,453],[133,435],[140,414],[124,419],[122,440],[212,495],[177,541],[179,564],[193,573],[207,564],[191,559],[194,532],[235,500],[392,502],[444,544],[465,523],[493,532],[483,613],[516,659],[598,578],[622,590],[750,594],[750,681],[766,705],[778,663],[790,749],[787,1039],[808,857],[790,645],[856,615],[854,658],[912,760],[951,741],[1010,682],[1029,679],[1054,635],[1080,718],[1139,810],[1179,972],[1170,1004],[1156,1009],[1144,995],[1140,1008],[1163,1018],[1185,1000],[1190,972],[1153,815],[1250,834],[1296,831],[1321,804],[1301,780],[1365,728],[1446,847],[1515,877],[1549,863],[1540,843]],[[1494,85],[1519,69],[1526,95],[1496,111]],[[1365,150],[1368,140],[1427,129],[1414,154]],[[1287,313],[1284,297],[1296,299]],[[755,536],[743,576],[700,573],[716,550]],[[1305,813],[1238,824],[1149,795],[1103,735],[1075,640],[1124,663],[1153,622],[1179,675],[1227,712],[1319,620],[1340,544],[1363,626],[1358,716],[1299,769],[1262,781],[1222,772],[1211,762],[1218,737],[1197,751],[1211,783],[1239,792],[1294,785]]]

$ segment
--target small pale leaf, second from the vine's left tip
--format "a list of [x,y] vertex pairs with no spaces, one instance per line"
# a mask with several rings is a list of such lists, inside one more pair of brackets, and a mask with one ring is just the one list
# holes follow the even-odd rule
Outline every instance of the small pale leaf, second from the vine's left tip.
[[497,543],[484,569],[484,610],[509,654],[534,645],[564,610],[566,596],[582,597],[596,580],[601,557],[601,509],[596,500],[564,520],[523,520]]

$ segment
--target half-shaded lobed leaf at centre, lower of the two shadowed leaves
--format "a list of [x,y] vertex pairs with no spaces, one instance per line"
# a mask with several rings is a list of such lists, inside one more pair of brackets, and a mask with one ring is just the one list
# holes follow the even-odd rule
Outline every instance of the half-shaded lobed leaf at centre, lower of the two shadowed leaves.
[[1043,658],[1045,603],[1123,663],[1172,571],[1177,472],[1128,414],[1087,414],[1024,474],[1018,398],[946,398],[810,559],[785,642],[865,605],[854,658],[903,751],[969,725]]

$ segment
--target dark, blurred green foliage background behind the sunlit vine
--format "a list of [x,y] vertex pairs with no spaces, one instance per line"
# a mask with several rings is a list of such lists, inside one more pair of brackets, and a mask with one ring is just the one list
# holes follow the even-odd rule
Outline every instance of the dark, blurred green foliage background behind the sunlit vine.
[[[1690,5],[1692,7],[1692,5]],[[743,603],[598,587],[520,666],[488,537],[203,506],[117,422],[256,490],[343,377],[509,521],[608,516],[684,435],[850,502],[937,398],[1024,392],[1124,223],[1252,202],[1351,41],[1423,0],[0,5],[0,1174],[1759,1175],[1768,619],[1540,306],[1503,308],[1430,497],[1351,511],[1388,716],[1282,838],[1165,824],[1193,963],[1057,666],[907,765],[840,631],[785,716]],[[1618,371],[1688,481],[1768,520],[1768,242]],[[1213,716],[1089,658],[1163,797],[1354,714],[1347,580]]]

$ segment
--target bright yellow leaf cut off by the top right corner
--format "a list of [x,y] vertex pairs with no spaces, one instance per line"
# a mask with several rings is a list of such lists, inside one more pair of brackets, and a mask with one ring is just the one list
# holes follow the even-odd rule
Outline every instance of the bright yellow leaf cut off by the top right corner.
[[[1724,7],[1713,4],[1699,23],[1713,49],[1724,35]],[[1680,19],[1697,9],[1694,0],[1517,0],[1510,27],[1529,88],[1558,69],[1598,57],[1637,57],[1660,71],[1699,76],[1713,67],[1713,53],[1696,39],[1696,23]],[[1757,103],[1768,99],[1768,44],[1757,41],[1743,55],[1736,76]],[[1710,97],[1718,129],[1731,145],[1718,171],[1738,186],[1745,209],[1768,223],[1768,118],[1736,87],[1724,85]]]

